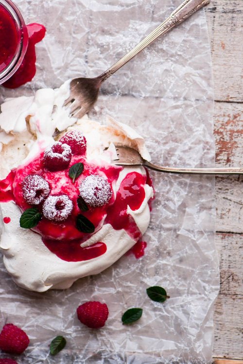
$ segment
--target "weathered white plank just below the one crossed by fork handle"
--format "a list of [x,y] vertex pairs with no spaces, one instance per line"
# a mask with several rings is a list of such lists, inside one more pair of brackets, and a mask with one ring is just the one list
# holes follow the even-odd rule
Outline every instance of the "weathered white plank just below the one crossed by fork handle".
[[243,235],[216,234],[220,293],[214,309],[214,357],[243,359]]

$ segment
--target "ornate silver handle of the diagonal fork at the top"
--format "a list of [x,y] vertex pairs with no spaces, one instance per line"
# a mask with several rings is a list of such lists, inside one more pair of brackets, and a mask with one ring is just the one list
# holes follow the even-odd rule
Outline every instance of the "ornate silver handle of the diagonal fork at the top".
[[190,17],[193,13],[207,5],[209,2],[210,0],[185,0],[172,12],[170,17],[160,24],[152,33],[147,35],[146,38],[144,38],[136,47],[130,50],[130,52],[128,52],[118,62],[98,76],[97,79],[100,79],[101,81],[106,80],[119,68],[124,66],[128,61],[135,57],[141,50],[154,42],[160,35],[167,33],[169,30],[174,28],[175,25]]

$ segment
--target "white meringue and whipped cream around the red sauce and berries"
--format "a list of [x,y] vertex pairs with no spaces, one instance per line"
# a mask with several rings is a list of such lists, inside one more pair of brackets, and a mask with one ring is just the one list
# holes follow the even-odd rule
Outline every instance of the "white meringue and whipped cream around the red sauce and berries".
[[[84,116],[76,120],[68,116],[62,107],[69,97],[69,82],[59,89],[40,89],[34,97],[7,99],[1,105],[0,114],[0,177],[7,176],[12,168],[24,165],[35,157],[40,148],[53,143],[56,131],[80,130],[87,140],[87,161],[97,165],[112,163],[117,158],[115,145],[126,145],[139,150],[144,159],[150,160],[143,138],[129,126],[107,117],[106,125]],[[62,136],[59,135],[58,139]],[[114,195],[128,173],[146,175],[143,167],[124,167],[115,184]],[[145,197],[137,210],[127,206],[127,213],[143,234],[150,221],[148,200],[153,188],[143,186]],[[44,292],[50,288],[69,288],[79,278],[102,272],[116,262],[136,243],[124,229],[115,230],[111,224],[101,222],[100,229],[81,244],[89,247],[104,242],[106,251],[97,258],[81,262],[68,262],[58,258],[43,243],[40,234],[19,226],[21,211],[14,201],[0,203],[0,248],[3,262],[14,281],[28,290]],[[11,222],[3,223],[8,216]]]

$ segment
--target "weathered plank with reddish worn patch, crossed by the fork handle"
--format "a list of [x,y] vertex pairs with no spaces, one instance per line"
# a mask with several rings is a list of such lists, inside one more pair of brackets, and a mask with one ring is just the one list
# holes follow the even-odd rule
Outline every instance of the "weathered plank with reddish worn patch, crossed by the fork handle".
[[[216,102],[216,164],[243,166],[243,104]],[[243,233],[243,178],[216,177],[216,231]]]

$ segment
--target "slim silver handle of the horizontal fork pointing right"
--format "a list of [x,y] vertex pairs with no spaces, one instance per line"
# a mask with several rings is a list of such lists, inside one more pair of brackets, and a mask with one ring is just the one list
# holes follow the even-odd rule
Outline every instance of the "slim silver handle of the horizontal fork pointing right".
[[158,172],[177,173],[177,174],[243,174],[243,168],[241,167],[226,167],[226,168],[173,168],[162,167],[154,165],[148,161],[143,161],[143,165],[154,169]]

